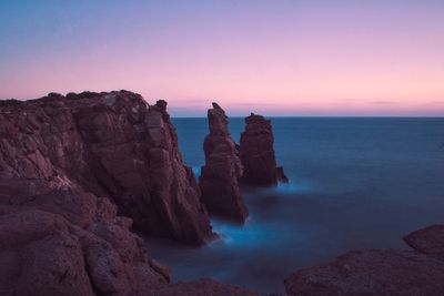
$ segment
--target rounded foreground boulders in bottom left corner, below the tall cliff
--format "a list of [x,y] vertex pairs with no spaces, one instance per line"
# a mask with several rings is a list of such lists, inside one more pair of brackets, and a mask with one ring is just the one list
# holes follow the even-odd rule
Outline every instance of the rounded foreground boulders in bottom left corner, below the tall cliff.
[[[64,193],[72,194],[57,194]],[[109,203],[117,212],[100,201],[105,197],[88,196],[97,211]],[[75,224],[70,216],[68,208],[0,205],[1,295],[131,295],[147,283],[167,285],[151,268],[142,239],[130,233],[131,220],[108,214]],[[140,266],[150,273],[140,274]]]

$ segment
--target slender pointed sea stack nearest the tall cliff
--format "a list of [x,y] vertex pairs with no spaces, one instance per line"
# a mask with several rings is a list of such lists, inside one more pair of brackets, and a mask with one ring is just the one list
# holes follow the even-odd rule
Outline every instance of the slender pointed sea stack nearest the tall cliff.
[[199,182],[202,201],[210,213],[243,222],[249,215],[238,184],[243,170],[228,129],[225,112],[213,103],[208,111],[208,120],[210,134],[203,143],[205,165]]

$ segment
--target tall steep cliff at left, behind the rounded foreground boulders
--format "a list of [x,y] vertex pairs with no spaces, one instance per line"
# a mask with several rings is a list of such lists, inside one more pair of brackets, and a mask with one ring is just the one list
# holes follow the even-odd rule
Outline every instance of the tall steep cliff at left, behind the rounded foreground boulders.
[[149,234],[192,244],[212,236],[167,103],[148,105],[135,93],[1,102],[0,180],[3,193],[21,187],[36,193],[41,190],[36,183],[44,181],[43,190],[78,186],[109,196]]

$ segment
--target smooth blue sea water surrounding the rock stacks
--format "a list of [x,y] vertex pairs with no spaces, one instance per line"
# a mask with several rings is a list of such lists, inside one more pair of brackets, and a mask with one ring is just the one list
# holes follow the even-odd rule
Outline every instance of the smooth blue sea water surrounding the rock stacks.
[[[206,119],[173,119],[196,174]],[[243,119],[230,119],[239,142]],[[291,273],[355,248],[407,248],[402,236],[444,223],[444,119],[273,118],[290,185],[244,192],[245,225],[212,220],[221,239],[193,248],[149,238],[172,282],[212,277],[283,292]]]

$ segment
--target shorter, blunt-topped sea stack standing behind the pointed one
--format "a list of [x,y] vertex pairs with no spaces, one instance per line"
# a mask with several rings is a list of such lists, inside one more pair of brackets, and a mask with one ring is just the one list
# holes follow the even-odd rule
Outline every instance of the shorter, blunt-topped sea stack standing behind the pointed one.
[[251,113],[241,134],[240,156],[243,165],[241,182],[253,186],[275,186],[287,183],[282,166],[276,167],[274,137],[270,120]]

